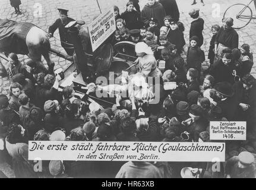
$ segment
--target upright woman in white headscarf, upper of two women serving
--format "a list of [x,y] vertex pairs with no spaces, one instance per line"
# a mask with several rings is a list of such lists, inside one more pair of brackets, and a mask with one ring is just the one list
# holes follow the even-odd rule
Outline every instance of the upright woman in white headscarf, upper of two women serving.
[[144,42],[139,42],[135,45],[135,52],[138,56],[138,72],[141,72],[144,77],[162,77],[162,72],[157,68],[157,61],[151,47]]

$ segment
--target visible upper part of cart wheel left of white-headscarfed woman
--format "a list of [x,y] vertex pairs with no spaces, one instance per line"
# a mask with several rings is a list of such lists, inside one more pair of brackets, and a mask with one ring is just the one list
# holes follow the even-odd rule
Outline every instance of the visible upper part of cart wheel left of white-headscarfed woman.
[[129,56],[136,56],[135,43],[124,41],[118,42],[113,47],[116,53],[122,53]]

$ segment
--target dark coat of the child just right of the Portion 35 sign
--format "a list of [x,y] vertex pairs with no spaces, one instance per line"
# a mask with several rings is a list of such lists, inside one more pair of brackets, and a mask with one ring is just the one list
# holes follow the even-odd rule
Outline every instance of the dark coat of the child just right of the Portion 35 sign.
[[142,26],[141,20],[140,20],[140,13],[138,11],[125,11],[121,14],[121,18],[125,21],[125,26],[129,30],[133,29],[140,29]]

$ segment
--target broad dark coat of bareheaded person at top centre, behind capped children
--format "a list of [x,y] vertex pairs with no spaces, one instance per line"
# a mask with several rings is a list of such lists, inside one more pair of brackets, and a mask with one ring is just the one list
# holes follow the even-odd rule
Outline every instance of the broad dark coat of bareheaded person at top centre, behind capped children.
[[165,15],[165,9],[159,2],[155,2],[152,6],[146,4],[141,11],[141,21],[147,25],[150,18],[156,18],[161,27],[163,26],[163,18],[165,18]]

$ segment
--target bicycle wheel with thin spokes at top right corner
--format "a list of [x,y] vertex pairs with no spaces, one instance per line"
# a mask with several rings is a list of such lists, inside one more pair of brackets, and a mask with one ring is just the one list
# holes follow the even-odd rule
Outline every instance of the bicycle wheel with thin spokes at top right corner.
[[234,20],[233,29],[242,29],[252,20],[252,9],[244,4],[234,4],[226,9],[223,18],[231,17]]

